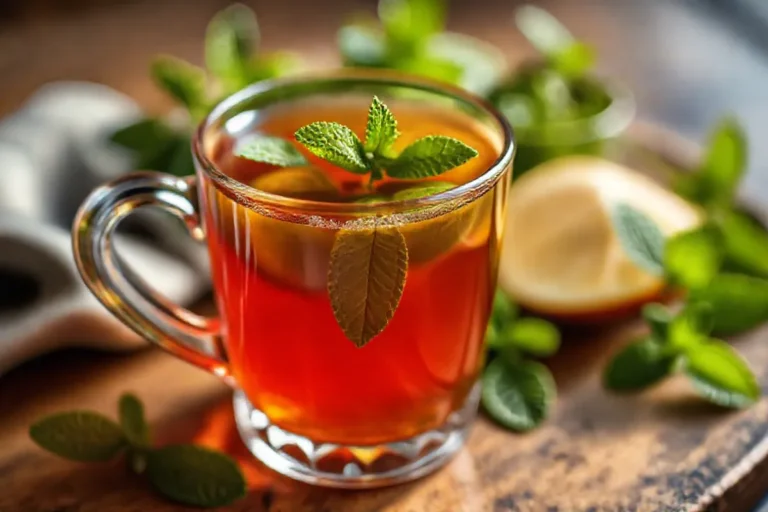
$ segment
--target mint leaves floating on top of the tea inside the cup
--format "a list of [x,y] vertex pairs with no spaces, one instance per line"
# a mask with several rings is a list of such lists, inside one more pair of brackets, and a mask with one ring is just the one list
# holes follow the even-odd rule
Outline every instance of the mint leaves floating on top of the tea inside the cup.
[[[394,144],[400,132],[392,111],[373,98],[368,110],[365,141],[339,123],[317,121],[296,130],[296,141],[309,153],[355,174],[370,175],[370,181],[386,173],[398,179],[438,176],[477,156],[477,150],[453,137],[428,135],[397,153]],[[282,167],[307,165],[301,152],[289,141],[257,137],[237,149],[237,155],[256,162]],[[432,188],[445,188],[431,183]],[[423,195],[423,194],[422,194]]]

